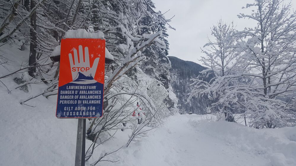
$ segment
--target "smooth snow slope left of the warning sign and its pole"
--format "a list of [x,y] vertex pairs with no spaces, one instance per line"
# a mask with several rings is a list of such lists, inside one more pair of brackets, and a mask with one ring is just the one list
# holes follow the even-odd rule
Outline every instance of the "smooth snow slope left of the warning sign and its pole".
[[56,96],[30,107],[18,102],[28,95],[19,89],[0,94],[0,165],[74,165],[77,120],[55,118]]

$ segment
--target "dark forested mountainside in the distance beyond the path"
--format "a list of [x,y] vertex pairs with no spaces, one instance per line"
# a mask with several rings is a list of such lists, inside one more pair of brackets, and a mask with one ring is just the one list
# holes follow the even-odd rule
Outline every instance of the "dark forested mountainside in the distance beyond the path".
[[[170,70],[172,73],[171,85],[178,98],[180,112],[206,114],[207,107],[210,104],[207,97],[193,98],[187,102],[187,94],[192,91],[192,88],[189,86],[191,83],[190,79],[197,77],[200,74],[199,72],[206,68],[194,62],[184,61],[173,56],[169,56],[169,60],[172,66]],[[207,81],[209,79],[211,78],[206,78]]]

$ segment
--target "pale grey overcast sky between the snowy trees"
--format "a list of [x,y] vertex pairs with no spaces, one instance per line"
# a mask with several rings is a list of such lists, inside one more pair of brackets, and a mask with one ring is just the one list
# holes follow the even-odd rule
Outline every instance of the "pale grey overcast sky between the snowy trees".
[[[294,0],[295,1],[295,0]],[[220,18],[236,25],[236,29],[255,27],[254,21],[239,19],[237,14],[250,14],[250,9],[241,9],[253,0],[153,0],[157,11],[166,12],[167,19],[175,15],[169,24],[176,30],[168,29],[169,56],[201,64],[201,49],[210,36],[210,27]],[[289,1],[286,1],[289,2]],[[292,0],[293,2],[293,0]],[[295,9],[296,2],[293,2]]]

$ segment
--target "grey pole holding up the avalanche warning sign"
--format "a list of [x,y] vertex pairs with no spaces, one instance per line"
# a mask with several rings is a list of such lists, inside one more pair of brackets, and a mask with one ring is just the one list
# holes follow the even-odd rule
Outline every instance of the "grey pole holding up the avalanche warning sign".
[[76,140],[76,154],[75,154],[75,166],[81,166],[82,160],[82,139],[83,136],[83,119],[78,119],[77,125],[77,140]]

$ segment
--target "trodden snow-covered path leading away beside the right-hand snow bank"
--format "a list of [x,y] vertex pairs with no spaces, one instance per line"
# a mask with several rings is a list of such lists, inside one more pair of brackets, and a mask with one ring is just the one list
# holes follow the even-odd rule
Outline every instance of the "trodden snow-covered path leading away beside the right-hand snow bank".
[[165,128],[169,128],[177,155],[175,165],[264,165],[265,158],[242,152],[199,131],[191,126],[192,116],[179,115],[169,119]]

